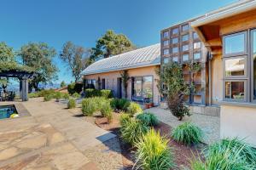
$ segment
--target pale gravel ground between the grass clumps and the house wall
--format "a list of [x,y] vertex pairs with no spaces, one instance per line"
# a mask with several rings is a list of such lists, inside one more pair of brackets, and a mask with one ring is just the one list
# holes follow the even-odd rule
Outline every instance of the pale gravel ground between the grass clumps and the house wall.
[[205,133],[205,139],[204,143],[206,144],[212,144],[213,142],[216,142],[219,140],[220,135],[219,135],[219,124],[220,120],[218,116],[207,116],[207,115],[201,115],[201,114],[196,114],[192,113],[192,116],[185,116],[183,118],[183,121],[177,121],[177,117],[172,116],[171,112],[162,109],[160,107],[153,107],[145,111],[150,111],[154,113],[161,122],[164,122],[171,127],[177,127],[179,124],[182,122],[194,122],[197,126],[201,127],[203,132]]

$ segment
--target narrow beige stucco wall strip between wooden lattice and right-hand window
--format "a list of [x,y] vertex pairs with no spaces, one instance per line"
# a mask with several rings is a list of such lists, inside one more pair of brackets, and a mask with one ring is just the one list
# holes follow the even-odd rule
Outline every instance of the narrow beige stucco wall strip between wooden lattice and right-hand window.
[[221,55],[214,55],[212,59],[212,104],[219,105],[223,99],[223,66]]

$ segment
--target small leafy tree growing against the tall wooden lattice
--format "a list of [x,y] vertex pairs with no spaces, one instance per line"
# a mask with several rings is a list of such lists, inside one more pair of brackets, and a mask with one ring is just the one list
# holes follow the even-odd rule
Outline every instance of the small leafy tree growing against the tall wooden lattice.
[[168,108],[173,116],[177,116],[178,120],[182,121],[183,116],[190,115],[189,108],[184,105],[184,95],[189,95],[190,89],[184,82],[182,65],[171,62],[163,65],[157,73],[160,77],[158,85],[160,94],[167,94]]

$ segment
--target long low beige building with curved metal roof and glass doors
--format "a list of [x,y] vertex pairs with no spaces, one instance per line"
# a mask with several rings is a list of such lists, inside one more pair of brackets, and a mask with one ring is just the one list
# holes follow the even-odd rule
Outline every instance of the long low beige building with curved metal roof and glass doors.
[[158,77],[155,72],[160,67],[160,44],[100,59],[88,66],[82,75],[88,88],[111,89],[117,98],[125,98],[121,74],[127,71],[127,99],[138,102],[160,104],[157,88]]

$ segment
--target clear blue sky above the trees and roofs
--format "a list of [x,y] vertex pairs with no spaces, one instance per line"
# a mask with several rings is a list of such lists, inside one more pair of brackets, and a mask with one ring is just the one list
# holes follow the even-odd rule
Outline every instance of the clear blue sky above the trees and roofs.
[[[138,47],[160,42],[160,31],[236,0],[0,0],[0,42],[15,50],[28,42],[47,42],[60,53],[72,41],[84,48],[111,29]],[[58,58],[61,81],[73,77]]]

